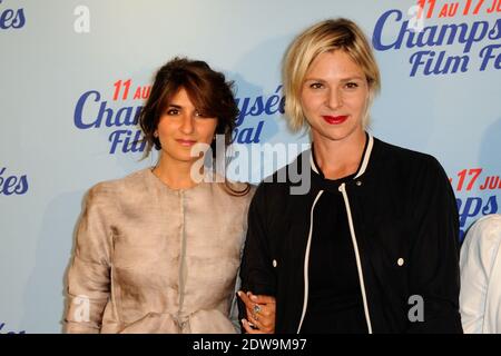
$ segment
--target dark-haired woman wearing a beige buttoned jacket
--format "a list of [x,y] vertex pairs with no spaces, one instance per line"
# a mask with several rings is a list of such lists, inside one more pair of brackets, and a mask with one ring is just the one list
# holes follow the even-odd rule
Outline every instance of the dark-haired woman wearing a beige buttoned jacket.
[[158,164],[90,189],[67,332],[238,329],[232,309],[253,189],[197,164],[216,135],[229,144],[237,113],[232,83],[206,62],[175,58],[159,69],[139,118]]

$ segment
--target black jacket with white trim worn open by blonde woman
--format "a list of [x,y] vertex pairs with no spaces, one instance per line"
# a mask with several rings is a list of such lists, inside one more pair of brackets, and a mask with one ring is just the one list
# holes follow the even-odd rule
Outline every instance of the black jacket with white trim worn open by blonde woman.
[[[316,170],[310,150],[294,167],[305,159],[308,174]],[[253,198],[240,278],[243,290],[276,297],[275,330],[291,334],[301,333],[307,309],[311,221],[323,185],[311,175],[310,191],[292,195],[298,184],[287,168]],[[436,159],[367,136],[361,168],[340,191],[370,333],[461,333],[459,217]]]

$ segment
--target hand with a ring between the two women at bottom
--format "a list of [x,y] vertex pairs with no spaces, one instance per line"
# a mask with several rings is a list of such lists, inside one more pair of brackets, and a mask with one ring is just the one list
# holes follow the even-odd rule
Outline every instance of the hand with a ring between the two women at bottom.
[[[238,290],[238,297],[244,301],[247,319],[242,319],[242,325],[248,334],[274,334],[275,333],[275,297],[245,294]],[[255,328],[252,327],[254,325]]]

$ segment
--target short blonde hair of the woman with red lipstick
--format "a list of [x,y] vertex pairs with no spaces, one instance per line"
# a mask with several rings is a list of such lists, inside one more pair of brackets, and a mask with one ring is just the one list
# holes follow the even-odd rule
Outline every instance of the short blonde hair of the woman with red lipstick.
[[[318,22],[294,39],[283,62],[285,113],[294,131],[306,123],[301,105],[301,91],[306,72],[318,55],[334,50],[345,51],[361,67],[369,83],[369,106],[380,91],[380,70],[372,48],[358,26],[342,18]],[[369,113],[365,115],[363,125],[364,128],[369,125]]]

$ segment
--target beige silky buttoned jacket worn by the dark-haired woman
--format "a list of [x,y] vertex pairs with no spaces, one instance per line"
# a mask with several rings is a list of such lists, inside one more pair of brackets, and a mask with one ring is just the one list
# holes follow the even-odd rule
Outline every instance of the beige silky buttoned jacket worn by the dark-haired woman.
[[253,194],[230,196],[216,182],[173,190],[149,168],[91,188],[68,271],[66,332],[236,333]]

